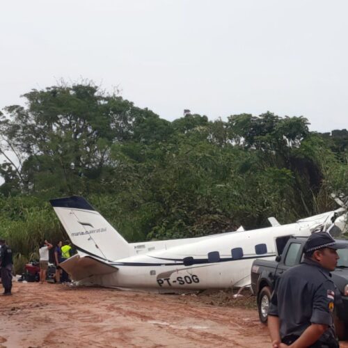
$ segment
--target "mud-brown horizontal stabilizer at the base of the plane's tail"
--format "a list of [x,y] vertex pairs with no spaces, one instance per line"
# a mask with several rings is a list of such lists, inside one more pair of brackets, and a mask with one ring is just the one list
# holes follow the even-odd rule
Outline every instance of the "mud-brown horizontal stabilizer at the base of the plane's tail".
[[82,280],[90,276],[109,274],[118,271],[117,267],[106,264],[91,256],[81,257],[79,254],[68,258],[60,266],[70,274],[72,280]]

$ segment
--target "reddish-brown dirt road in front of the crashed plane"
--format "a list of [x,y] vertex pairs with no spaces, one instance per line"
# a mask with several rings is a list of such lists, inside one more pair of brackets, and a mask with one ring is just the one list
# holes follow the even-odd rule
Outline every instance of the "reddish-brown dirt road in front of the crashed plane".
[[0,347],[270,347],[254,299],[38,283],[13,293],[1,297]]

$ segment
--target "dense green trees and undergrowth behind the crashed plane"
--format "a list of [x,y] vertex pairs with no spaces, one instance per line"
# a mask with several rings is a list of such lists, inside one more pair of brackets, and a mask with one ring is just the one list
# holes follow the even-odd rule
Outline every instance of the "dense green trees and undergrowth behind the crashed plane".
[[168,122],[93,84],[24,95],[0,114],[0,235],[17,258],[63,232],[49,198],[83,195],[129,242],[287,223],[348,194],[348,132],[303,117]]

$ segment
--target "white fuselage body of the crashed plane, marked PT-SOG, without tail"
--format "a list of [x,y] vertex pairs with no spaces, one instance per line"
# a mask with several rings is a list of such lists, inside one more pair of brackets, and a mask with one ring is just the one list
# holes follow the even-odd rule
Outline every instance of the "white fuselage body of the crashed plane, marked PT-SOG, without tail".
[[[244,287],[250,284],[251,264],[256,258],[274,260],[278,255],[276,237],[310,235],[298,223],[285,229],[262,228],[260,230],[230,232],[212,235],[197,242],[180,246],[167,246],[158,251],[143,251],[112,262],[118,267],[114,274],[95,276],[97,284],[113,287],[143,288],[144,290],[204,290]],[[170,241],[169,241],[170,242]],[[182,242],[185,242],[182,239]],[[156,243],[156,242],[155,242]],[[154,242],[149,242],[150,248]],[[255,246],[264,244],[266,253],[255,253]],[[138,246],[139,244],[134,244]],[[144,245],[144,244],[141,244]],[[146,246],[146,244],[145,244]],[[163,246],[163,245],[162,245]],[[161,246],[161,247],[162,247]],[[231,250],[242,248],[242,258],[234,260]],[[208,254],[219,253],[219,262],[209,262]],[[193,264],[185,265],[184,258],[193,258]]]

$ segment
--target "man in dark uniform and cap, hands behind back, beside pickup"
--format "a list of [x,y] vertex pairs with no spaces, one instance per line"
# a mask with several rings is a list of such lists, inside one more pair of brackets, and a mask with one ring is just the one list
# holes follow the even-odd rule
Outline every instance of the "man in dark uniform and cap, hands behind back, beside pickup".
[[333,325],[335,297],[331,280],[339,259],[337,244],[326,232],[310,235],[301,264],[278,278],[269,304],[268,326],[272,347],[339,347]]

